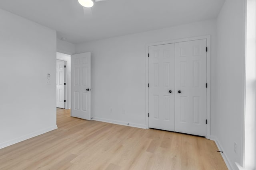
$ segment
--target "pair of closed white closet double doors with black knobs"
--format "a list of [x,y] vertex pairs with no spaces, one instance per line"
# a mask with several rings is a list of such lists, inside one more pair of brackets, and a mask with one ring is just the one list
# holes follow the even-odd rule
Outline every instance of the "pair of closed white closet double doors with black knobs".
[[210,138],[209,39],[148,45],[148,128]]

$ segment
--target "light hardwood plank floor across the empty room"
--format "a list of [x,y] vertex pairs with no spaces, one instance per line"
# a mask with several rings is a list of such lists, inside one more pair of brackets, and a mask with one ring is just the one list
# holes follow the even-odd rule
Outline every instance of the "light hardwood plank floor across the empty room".
[[0,150],[0,170],[226,170],[214,141],[86,121],[57,109],[58,129]]

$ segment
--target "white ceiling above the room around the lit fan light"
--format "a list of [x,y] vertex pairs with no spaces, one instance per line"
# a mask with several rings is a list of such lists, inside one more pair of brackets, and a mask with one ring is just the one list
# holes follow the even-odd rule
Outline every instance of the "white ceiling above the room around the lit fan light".
[[0,8],[57,30],[71,43],[213,19],[225,0],[107,0],[92,18],[77,0],[0,0]]

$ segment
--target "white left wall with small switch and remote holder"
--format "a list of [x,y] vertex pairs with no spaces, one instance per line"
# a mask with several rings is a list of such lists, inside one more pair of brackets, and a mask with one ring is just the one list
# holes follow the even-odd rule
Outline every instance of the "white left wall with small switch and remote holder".
[[56,129],[56,31],[0,10],[0,59],[0,148]]

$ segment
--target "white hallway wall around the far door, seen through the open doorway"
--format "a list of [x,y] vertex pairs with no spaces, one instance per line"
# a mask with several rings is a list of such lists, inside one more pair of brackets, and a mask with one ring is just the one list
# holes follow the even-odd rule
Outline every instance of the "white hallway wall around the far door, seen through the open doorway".
[[67,83],[66,83],[66,87],[68,88],[68,94],[66,94],[67,96],[67,105],[68,108],[66,109],[70,109],[71,108],[71,56],[64,54],[64,53],[59,53],[57,52],[57,59],[58,60],[63,60],[66,61],[66,72],[67,72]]

